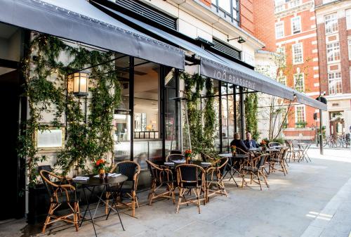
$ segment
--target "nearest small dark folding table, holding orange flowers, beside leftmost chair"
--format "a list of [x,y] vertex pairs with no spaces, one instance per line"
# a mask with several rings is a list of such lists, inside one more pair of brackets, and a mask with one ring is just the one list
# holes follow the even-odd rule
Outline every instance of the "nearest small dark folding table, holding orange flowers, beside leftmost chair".
[[[103,200],[102,197],[105,195],[105,193],[107,191],[110,191],[111,186],[123,184],[123,182],[126,181],[128,179],[128,177],[126,177],[124,174],[120,174],[118,177],[108,177],[107,181],[105,181],[105,179],[103,181],[100,181],[100,178],[94,177],[94,174],[88,175],[86,177],[89,177],[89,179],[86,180],[86,181],[84,181],[84,180],[77,180],[77,179],[74,180],[73,179],[74,183],[83,186],[83,192],[84,192],[84,196],[86,198],[86,204],[87,205],[86,205],[86,210],[84,212],[84,216],[81,219],[81,224],[83,223],[84,218],[86,217],[86,212],[89,212],[91,219],[88,219],[88,220],[91,220],[91,223],[93,224],[93,229],[94,229],[94,232],[95,232],[95,236],[98,236],[97,233],[96,233],[96,230],[95,230],[94,218],[95,218],[95,214],[96,214],[96,211],[98,210],[98,207],[99,207],[100,203],[101,202],[105,203],[105,200]],[[98,196],[97,194],[94,193],[95,188],[98,187],[98,186],[103,186],[102,193],[101,193],[100,196]],[[86,190],[90,191],[90,193],[91,193],[91,196],[90,196],[89,199],[86,196]],[[91,205],[91,202],[93,200],[93,196],[98,198],[98,205],[95,207],[94,214],[91,215],[90,205]],[[114,201],[114,198],[112,198],[112,199],[113,199],[112,205],[109,205],[109,207],[111,208],[111,210],[114,210],[114,212],[117,212],[118,217],[119,217],[119,221],[121,222],[122,229],[125,231],[124,226],[123,226],[122,221],[121,221],[121,217],[120,217],[118,209],[117,209],[116,202]],[[113,205],[114,205],[115,209],[114,209]],[[109,214],[110,214],[110,212],[107,214],[106,219],[109,217]],[[103,216],[101,216],[101,217],[103,217]],[[79,225],[79,227],[81,226],[81,224]]]

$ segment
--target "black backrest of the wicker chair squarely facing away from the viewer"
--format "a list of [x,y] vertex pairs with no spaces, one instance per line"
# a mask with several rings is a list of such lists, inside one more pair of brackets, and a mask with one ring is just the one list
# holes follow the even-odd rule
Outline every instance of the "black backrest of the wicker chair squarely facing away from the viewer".
[[203,184],[205,171],[199,165],[183,164],[178,165],[176,169],[178,186],[201,186]]

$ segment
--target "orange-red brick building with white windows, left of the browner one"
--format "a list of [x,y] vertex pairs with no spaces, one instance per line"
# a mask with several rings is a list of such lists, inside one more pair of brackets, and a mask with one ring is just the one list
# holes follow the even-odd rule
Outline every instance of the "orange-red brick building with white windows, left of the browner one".
[[[275,0],[275,38],[277,51],[286,55],[286,68],[279,73],[279,82],[317,98],[319,59],[314,1]],[[286,131],[296,131],[299,127],[315,127],[315,112],[317,111],[312,107],[293,103]]]

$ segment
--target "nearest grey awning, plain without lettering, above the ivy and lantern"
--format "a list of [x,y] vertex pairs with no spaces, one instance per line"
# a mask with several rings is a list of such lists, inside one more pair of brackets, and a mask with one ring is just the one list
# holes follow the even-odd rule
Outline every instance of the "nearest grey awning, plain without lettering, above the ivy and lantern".
[[0,22],[184,69],[185,53],[102,13],[86,0],[0,0]]

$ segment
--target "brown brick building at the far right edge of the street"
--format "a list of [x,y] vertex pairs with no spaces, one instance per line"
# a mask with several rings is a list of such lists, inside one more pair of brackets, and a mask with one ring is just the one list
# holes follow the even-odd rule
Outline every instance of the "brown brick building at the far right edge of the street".
[[326,134],[350,132],[351,1],[315,0],[319,78],[326,92]]

